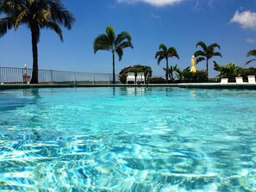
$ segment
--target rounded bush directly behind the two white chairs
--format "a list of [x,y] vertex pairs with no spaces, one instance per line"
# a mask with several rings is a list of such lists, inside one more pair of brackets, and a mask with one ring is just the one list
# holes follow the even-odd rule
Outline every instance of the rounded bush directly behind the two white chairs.
[[122,71],[120,71],[119,73],[119,80],[122,82],[122,84],[126,84],[126,77],[128,72],[134,72],[135,75],[138,72],[144,72],[145,77],[147,77],[147,74],[148,74],[148,78],[152,76],[152,69],[150,66],[147,66],[147,65],[128,66],[123,68]]

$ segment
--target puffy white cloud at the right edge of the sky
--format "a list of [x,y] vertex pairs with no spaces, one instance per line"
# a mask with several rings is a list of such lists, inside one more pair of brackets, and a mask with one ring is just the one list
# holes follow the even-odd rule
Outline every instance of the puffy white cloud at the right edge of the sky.
[[235,11],[230,22],[238,22],[242,28],[256,30],[256,13],[246,10],[244,12]]

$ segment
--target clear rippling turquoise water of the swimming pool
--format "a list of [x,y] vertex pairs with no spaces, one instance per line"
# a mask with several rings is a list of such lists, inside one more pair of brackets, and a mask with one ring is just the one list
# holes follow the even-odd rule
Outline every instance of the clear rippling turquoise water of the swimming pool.
[[256,91],[0,91],[0,191],[255,191]]

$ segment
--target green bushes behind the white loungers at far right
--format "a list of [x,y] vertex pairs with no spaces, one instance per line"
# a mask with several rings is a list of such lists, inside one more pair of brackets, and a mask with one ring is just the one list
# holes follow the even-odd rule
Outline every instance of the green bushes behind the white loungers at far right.
[[234,65],[234,63],[230,63],[228,65],[218,65],[214,61],[215,71],[220,71],[221,73],[218,75],[219,78],[228,78],[229,82],[235,82],[235,77],[243,77],[245,81],[247,81],[247,76],[256,75],[256,68],[242,68],[240,66]]

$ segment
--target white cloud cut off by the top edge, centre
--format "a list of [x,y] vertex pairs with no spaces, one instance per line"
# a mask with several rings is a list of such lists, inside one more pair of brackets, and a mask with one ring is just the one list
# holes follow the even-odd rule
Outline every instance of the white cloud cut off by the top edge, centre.
[[117,0],[118,3],[149,3],[153,6],[162,7],[165,5],[172,5],[175,3],[184,2],[185,0]]

